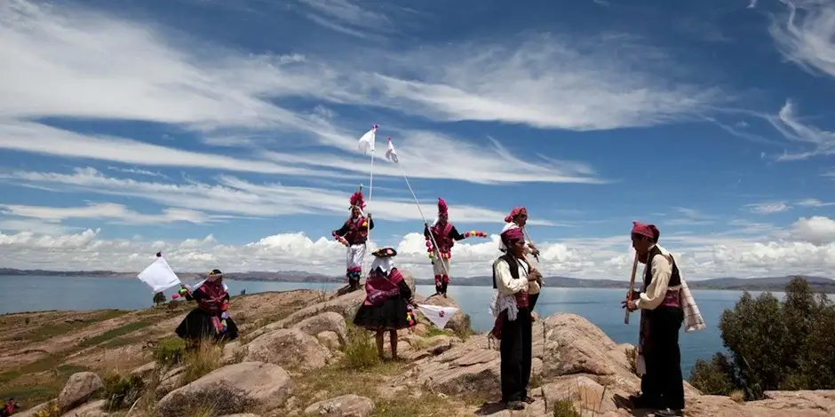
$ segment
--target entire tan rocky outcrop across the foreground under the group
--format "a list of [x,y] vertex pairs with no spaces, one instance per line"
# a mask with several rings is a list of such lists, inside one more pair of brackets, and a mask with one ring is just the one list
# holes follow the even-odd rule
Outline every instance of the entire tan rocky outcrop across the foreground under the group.
[[[353,390],[346,389],[346,383],[347,388],[356,384],[338,380],[341,368],[322,369],[318,371],[321,378],[307,378],[316,375],[316,369],[330,366],[344,355],[340,350],[350,342],[346,319],[353,317],[364,296],[363,291],[332,296],[259,328],[256,337],[228,343],[224,347],[223,363],[242,359],[243,362],[220,367],[185,386],[180,386],[186,374],[183,366],[163,368],[148,363],[135,368],[131,375],[154,380],[148,388],[156,389],[156,395],[162,397],[156,411],[171,417],[195,413],[225,417],[363,417],[386,413],[375,407],[387,407],[391,401],[403,397],[423,401],[429,395],[448,397],[449,403],[443,405],[441,413],[449,417],[553,417],[554,407],[565,405],[573,406],[579,415],[647,415],[644,411],[627,409],[626,398],[640,389],[640,379],[630,370],[628,355],[632,346],[612,342],[600,328],[574,314],[556,314],[533,325],[534,359],[529,392],[535,401],[521,413],[502,410],[495,404],[479,408],[464,404],[464,397],[498,399],[497,342],[491,342],[485,334],[473,335],[466,341],[452,332],[427,336],[428,326],[423,318],[418,326],[424,327],[423,333],[419,328],[401,332],[399,354],[410,362],[409,370],[398,369],[396,374],[375,374],[370,380],[364,379],[364,384],[378,384],[362,386],[362,395],[368,397],[346,394]],[[427,300],[419,295],[417,298],[420,303],[457,307],[450,298],[433,296]],[[460,317],[453,317],[449,326],[466,332],[469,325],[465,316],[460,311],[457,314]],[[292,378],[297,378],[298,387],[285,369],[297,372]],[[364,371],[365,377],[369,372],[373,371]],[[340,381],[338,388],[333,388],[328,381]],[[687,383],[685,387],[686,413],[691,417],[835,415],[835,390],[768,391],[763,400],[741,404],[728,397],[701,395]],[[106,401],[96,396],[101,389],[102,382],[96,374],[74,374],[57,399],[15,415],[35,417],[38,408],[52,410],[59,405],[64,417],[111,415],[103,411]],[[333,392],[334,389],[339,392]],[[334,397],[338,394],[346,395]],[[153,397],[153,393],[149,395]],[[375,405],[375,400],[380,405]],[[391,410],[387,408],[388,412]],[[58,415],[54,413],[57,411],[51,415]]]

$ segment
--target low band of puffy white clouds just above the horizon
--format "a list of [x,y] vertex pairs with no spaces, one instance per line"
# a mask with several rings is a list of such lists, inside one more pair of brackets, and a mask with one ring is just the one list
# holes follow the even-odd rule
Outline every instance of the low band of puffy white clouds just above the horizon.
[[[822,232],[824,231],[824,232]],[[801,218],[786,229],[772,229],[773,236],[742,238],[714,234],[662,234],[662,244],[673,251],[689,279],[724,276],[780,276],[823,274],[835,267],[835,222],[826,217]],[[795,237],[783,240],[776,234]],[[496,235],[490,240],[459,242],[453,248],[453,278],[489,275],[498,255]],[[814,242],[813,242],[814,240]],[[398,265],[422,278],[431,267],[424,238],[410,233],[395,243]],[[628,279],[632,254],[628,233],[608,238],[539,242],[540,267],[549,275],[579,278]],[[305,270],[339,276],[344,273],[345,248],[302,232],[266,236],[243,245],[219,242],[213,236],[184,241],[107,240],[98,231],[42,235],[32,232],[0,233],[0,248],[8,259],[4,266],[26,268],[36,264],[54,269],[112,269],[139,271],[163,250],[179,271],[290,271]],[[374,248],[374,244],[372,244]],[[370,262],[370,259],[368,260]]]

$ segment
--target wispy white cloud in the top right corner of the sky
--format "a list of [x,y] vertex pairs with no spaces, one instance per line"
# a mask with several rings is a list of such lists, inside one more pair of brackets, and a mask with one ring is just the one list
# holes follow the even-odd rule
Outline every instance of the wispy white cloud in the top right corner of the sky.
[[781,0],[788,14],[769,31],[785,59],[813,75],[835,77],[835,4],[830,0]]

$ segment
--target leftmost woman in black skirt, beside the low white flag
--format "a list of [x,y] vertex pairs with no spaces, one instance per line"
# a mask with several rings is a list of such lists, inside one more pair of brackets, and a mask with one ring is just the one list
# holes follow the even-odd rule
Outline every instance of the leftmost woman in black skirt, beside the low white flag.
[[186,300],[197,302],[197,308],[177,327],[177,335],[194,348],[203,340],[230,341],[238,337],[238,327],[229,316],[229,287],[223,282],[223,272],[212,270],[203,282],[187,292]]

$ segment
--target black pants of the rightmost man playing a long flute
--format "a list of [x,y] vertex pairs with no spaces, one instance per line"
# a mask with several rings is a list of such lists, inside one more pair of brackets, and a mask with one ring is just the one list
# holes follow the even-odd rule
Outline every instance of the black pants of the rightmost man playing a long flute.
[[649,337],[643,356],[647,374],[640,379],[641,397],[646,404],[672,410],[684,409],[684,382],[681,377],[679,331],[684,311],[658,307],[648,311]]

